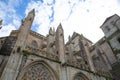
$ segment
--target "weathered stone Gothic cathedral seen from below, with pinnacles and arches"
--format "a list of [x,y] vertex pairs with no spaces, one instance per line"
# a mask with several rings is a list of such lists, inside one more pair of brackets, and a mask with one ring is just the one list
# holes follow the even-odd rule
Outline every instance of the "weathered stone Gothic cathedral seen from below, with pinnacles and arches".
[[19,30],[0,38],[0,80],[120,80],[120,17],[101,25],[105,36],[93,44],[76,32],[64,42],[64,30],[47,36],[31,29],[35,10]]

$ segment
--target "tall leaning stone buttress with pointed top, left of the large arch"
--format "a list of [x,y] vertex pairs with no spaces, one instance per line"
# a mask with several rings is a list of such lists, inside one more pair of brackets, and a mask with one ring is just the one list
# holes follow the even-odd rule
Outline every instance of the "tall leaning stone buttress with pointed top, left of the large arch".
[[28,13],[27,17],[22,20],[22,24],[17,36],[17,41],[13,47],[8,63],[3,71],[0,80],[16,80],[23,56],[22,50],[25,49],[26,38],[29,34],[34,16],[35,10],[33,9]]

